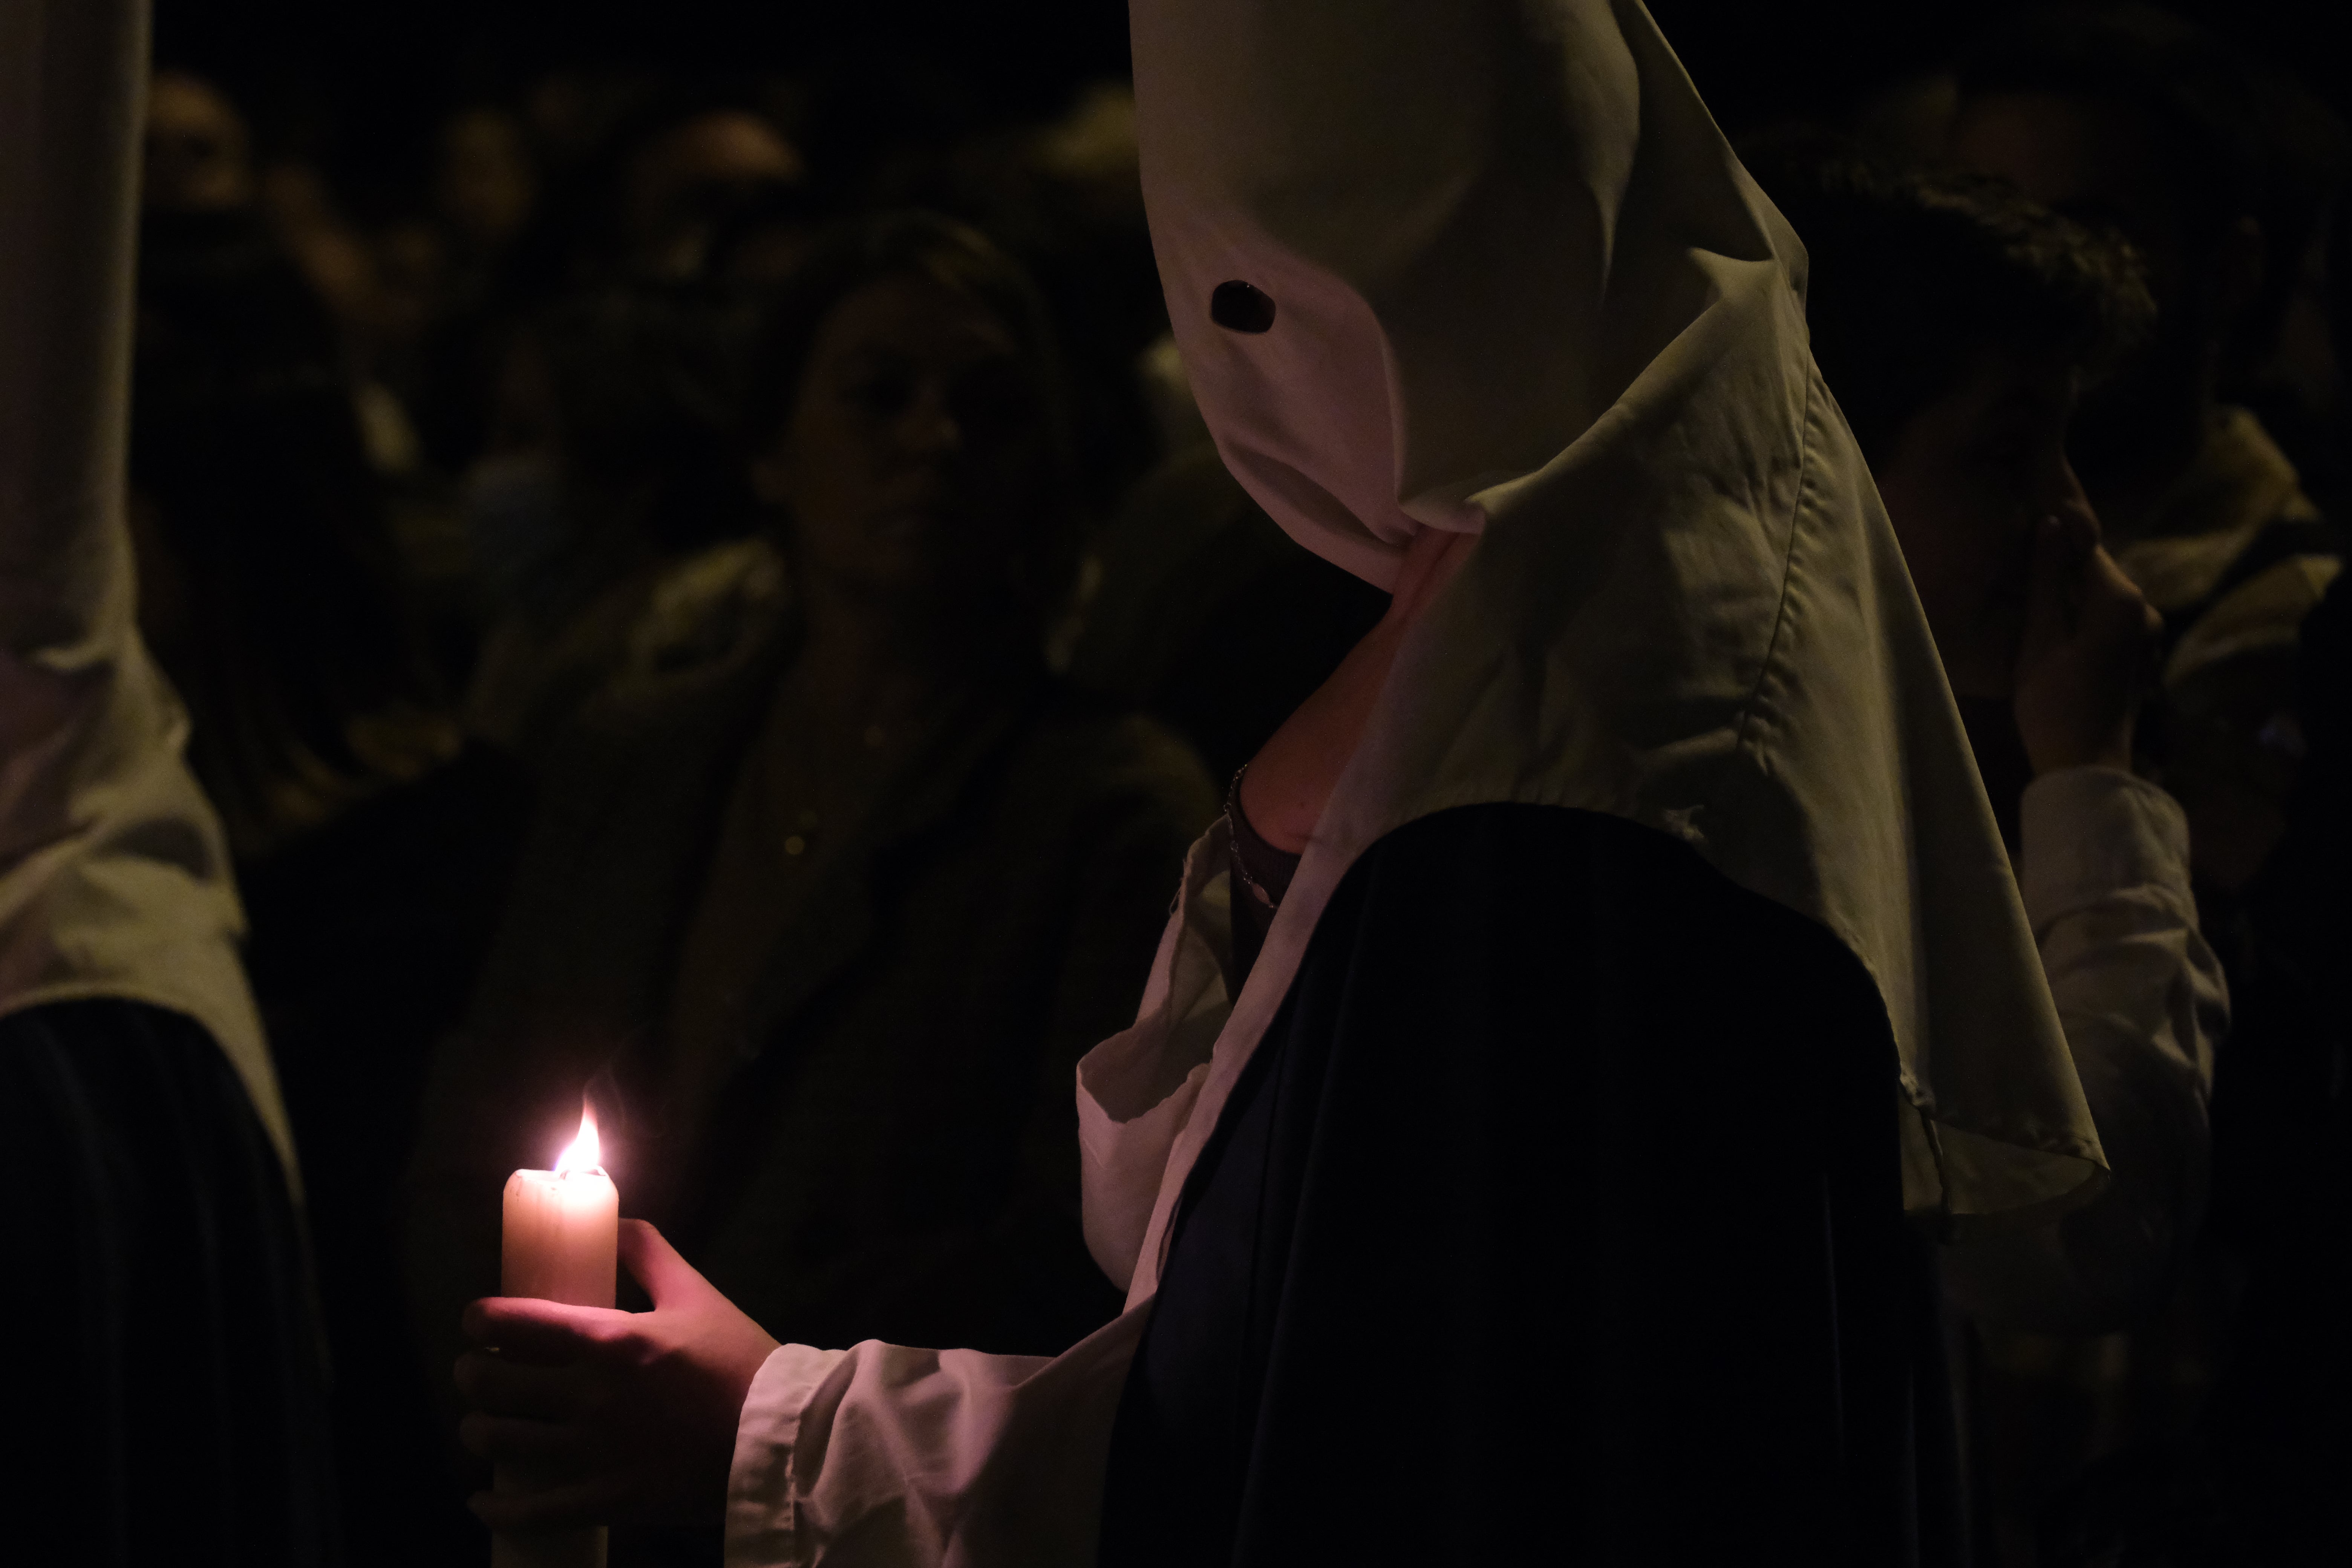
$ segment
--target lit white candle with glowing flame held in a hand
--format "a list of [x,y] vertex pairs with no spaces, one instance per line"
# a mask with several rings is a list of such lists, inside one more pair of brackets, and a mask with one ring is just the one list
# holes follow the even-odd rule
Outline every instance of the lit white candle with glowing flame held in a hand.
[[[567,1307],[612,1307],[619,1253],[621,1194],[604,1175],[595,1112],[583,1103],[581,1135],[555,1159],[553,1171],[515,1171],[506,1178],[499,1291]],[[501,1465],[492,1486],[515,1490],[508,1481]],[[496,1535],[489,1561],[492,1568],[602,1568],[604,1528]]]

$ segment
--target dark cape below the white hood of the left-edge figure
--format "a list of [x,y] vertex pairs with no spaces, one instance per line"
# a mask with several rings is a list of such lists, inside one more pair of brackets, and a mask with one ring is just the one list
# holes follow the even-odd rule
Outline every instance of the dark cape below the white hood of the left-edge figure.
[[0,1018],[0,1561],[341,1561],[301,1218],[205,1027],[118,999]]

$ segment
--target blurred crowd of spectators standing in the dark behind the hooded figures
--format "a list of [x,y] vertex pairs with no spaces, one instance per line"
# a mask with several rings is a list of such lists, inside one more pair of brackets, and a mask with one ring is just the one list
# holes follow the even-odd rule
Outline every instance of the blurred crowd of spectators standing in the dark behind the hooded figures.
[[[2161,785],[2227,990],[2183,1234],[2100,1321],[1955,1328],[1987,1563],[2347,1540],[2352,132],[2303,66],[2060,12],[1726,127],[2011,844],[2051,757]],[[482,1552],[456,1314],[583,1084],[628,1213],[779,1335],[1108,1319],[1073,1065],[1385,604],[1209,444],[1124,82],[830,165],[811,101],[550,71],[362,219],[153,75],[139,618],[238,860],[360,1563]],[[2164,618],[2089,738],[2016,682],[2051,515]]]

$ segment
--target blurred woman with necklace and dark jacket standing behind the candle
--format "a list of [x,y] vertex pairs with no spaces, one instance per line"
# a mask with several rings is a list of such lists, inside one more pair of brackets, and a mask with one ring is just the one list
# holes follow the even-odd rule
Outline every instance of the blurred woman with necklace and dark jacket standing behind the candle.
[[593,1086],[630,1213],[779,1333],[1058,1349],[1117,1309],[1070,1072],[1134,1011],[1216,795],[1044,672],[1068,451],[1042,306],[993,244],[929,216],[818,244],[746,433],[776,527],[668,574],[548,750],[435,1072],[421,1324],[454,1354],[499,1182]]

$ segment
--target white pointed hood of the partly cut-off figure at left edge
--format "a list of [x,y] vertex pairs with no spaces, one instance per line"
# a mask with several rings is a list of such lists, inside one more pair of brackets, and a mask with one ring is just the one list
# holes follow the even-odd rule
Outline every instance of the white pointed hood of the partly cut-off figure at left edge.
[[195,1018],[294,1180],[221,825],[125,520],[143,0],[0,0],[0,1013]]

